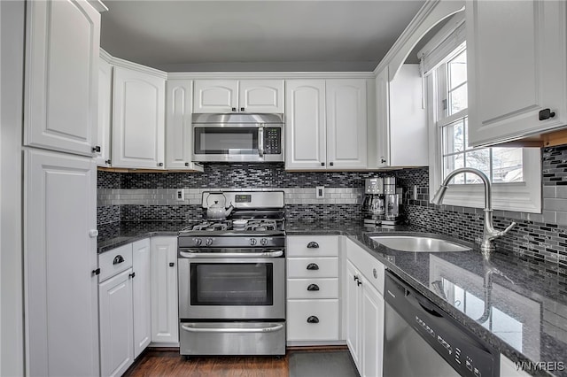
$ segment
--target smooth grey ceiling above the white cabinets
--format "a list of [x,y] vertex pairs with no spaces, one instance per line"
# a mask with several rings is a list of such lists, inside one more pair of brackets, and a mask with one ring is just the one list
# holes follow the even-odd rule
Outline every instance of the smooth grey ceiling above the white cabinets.
[[167,72],[368,72],[423,4],[105,0],[101,45]]

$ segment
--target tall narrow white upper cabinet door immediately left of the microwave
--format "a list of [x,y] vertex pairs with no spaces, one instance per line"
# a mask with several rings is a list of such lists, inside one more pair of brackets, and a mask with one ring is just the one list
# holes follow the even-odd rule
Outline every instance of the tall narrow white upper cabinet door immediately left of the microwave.
[[193,81],[169,80],[166,94],[166,169],[199,170],[191,162]]

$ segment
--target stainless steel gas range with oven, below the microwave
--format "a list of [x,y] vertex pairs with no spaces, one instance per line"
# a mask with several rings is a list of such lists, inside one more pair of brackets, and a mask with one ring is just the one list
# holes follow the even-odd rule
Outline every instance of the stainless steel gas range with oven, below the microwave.
[[182,355],[285,354],[283,191],[204,192],[226,197],[229,219],[179,232]]

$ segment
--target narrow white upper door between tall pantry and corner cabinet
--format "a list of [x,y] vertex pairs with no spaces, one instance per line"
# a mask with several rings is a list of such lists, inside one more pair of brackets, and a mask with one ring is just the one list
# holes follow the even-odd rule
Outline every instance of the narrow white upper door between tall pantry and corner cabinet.
[[98,131],[95,160],[98,166],[110,166],[110,135],[113,114],[113,66],[105,60],[98,62]]

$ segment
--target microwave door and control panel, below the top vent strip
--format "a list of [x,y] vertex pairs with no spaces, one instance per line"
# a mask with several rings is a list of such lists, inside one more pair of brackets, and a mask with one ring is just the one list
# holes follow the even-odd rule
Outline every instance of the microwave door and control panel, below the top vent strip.
[[193,125],[193,161],[283,161],[283,127]]

